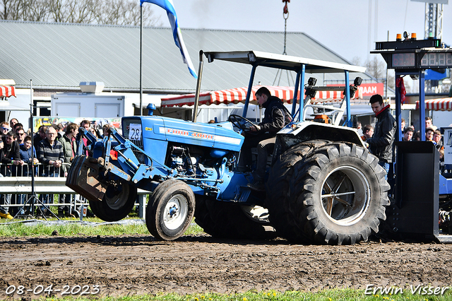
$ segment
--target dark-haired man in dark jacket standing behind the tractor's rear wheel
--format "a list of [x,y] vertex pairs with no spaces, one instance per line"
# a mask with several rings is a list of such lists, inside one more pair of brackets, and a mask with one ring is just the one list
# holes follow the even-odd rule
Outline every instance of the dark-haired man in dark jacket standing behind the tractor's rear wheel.
[[[379,165],[389,172],[389,165],[393,162],[393,143],[396,136],[397,122],[391,114],[389,105],[383,107],[381,95],[372,95],[370,98],[372,111],[375,113],[376,124],[374,136],[366,140],[371,153],[379,158]],[[387,178],[387,175],[386,175]]]

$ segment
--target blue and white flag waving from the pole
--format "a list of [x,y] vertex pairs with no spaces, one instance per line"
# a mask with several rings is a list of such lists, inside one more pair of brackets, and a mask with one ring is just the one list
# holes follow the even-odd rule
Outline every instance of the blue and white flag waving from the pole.
[[149,2],[157,6],[160,6],[161,8],[165,8],[165,10],[167,11],[169,23],[171,24],[174,42],[176,43],[177,47],[179,47],[179,49],[181,50],[182,59],[184,59],[184,63],[187,64],[187,66],[189,66],[189,71],[191,75],[194,76],[194,78],[198,78],[198,76],[196,76],[193,64],[191,64],[189,52],[186,51],[184,40],[182,40],[182,33],[181,29],[179,28],[179,24],[177,23],[176,10],[174,9],[172,0],[140,0],[140,2],[141,2],[140,5],[143,5],[143,2]]

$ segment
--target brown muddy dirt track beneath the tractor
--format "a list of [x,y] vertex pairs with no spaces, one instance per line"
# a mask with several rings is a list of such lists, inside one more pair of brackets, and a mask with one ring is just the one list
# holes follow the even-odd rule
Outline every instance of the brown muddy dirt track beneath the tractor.
[[35,299],[49,285],[57,296],[452,286],[452,244],[434,243],[317,246],[208,235],[175,242],[146,235],[3,237],[0,264],[1,300]]

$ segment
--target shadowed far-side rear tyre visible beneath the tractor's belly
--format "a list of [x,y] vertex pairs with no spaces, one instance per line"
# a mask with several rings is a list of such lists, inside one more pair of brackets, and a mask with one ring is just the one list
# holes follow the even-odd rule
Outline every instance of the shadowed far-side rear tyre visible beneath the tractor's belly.
[[268,222],[268,210],[196,196],[195,222],[216,238],[270,240],[276,232]]

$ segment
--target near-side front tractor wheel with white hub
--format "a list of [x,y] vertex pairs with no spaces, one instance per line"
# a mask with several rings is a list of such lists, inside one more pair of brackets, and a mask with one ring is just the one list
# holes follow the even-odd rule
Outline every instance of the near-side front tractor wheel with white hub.
[[155,188],[146,207],[146,226],[157,240],[176,240],[193,219],[195,196],[189,185],[169,179]]

